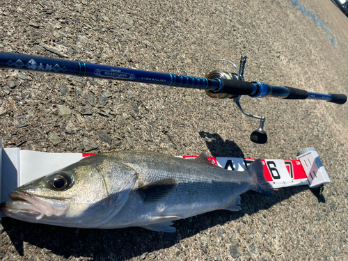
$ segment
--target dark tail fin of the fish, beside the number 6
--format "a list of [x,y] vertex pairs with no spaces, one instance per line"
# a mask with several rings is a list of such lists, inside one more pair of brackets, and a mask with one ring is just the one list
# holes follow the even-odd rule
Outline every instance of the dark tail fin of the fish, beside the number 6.
[[251,179],[255,184],[255,187],[252,189],[253,191],[265,195],[274,195],[273,187],[264,177],[264,168],[261,159],[256,159],[253,161],[250,166],[248,166],[246,171],[248,171],[249,175],[251,175]]

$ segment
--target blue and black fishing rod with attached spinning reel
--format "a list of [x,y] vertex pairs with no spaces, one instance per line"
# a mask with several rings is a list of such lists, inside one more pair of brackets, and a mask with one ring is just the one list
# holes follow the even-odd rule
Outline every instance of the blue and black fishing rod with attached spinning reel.
[[226,72],[224,70],[213,70],[212,72],[207,72],[205,78],[189,77],[180,74],[150,72],[95,63],[84,63],[81,61],[68,61],[26,54],[0,52],[0,68],[2,69],[69,74],[78,77],[93,77],[200,89],[205,90],[207,95],[212,98],[232,98],[235,100],[242,113],[260,120],[260,127],[251,133],[251,141],[255,143],[267,142],[267,134],[264,132],[264,122],[266,118],[254,116],[244,111],[239,102],[242,95],[248,95],[250,97],[277,97],[290,100],[324,100],[335,104],[344,104],[347,101],[347,96],[343,94],[311,93],[307,90],[300,90],[292,87],[271,86],[259,81],[244,81],[246,56],[242,56],[239,68],[231,61],[218,61],[232,64],[237,70],[237,73]]

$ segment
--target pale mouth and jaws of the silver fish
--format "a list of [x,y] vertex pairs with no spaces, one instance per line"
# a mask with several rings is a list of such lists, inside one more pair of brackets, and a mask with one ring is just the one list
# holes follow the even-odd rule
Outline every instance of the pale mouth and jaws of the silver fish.
[[13,201],[1,203],[0,211],[6,216],[22,217],[23,219],[34,217],[36,220],[44,216],[61,216],[68,209],[68,206],[52,207],[40,200],[38,196],[24,191],[13,191],[9,194]]

